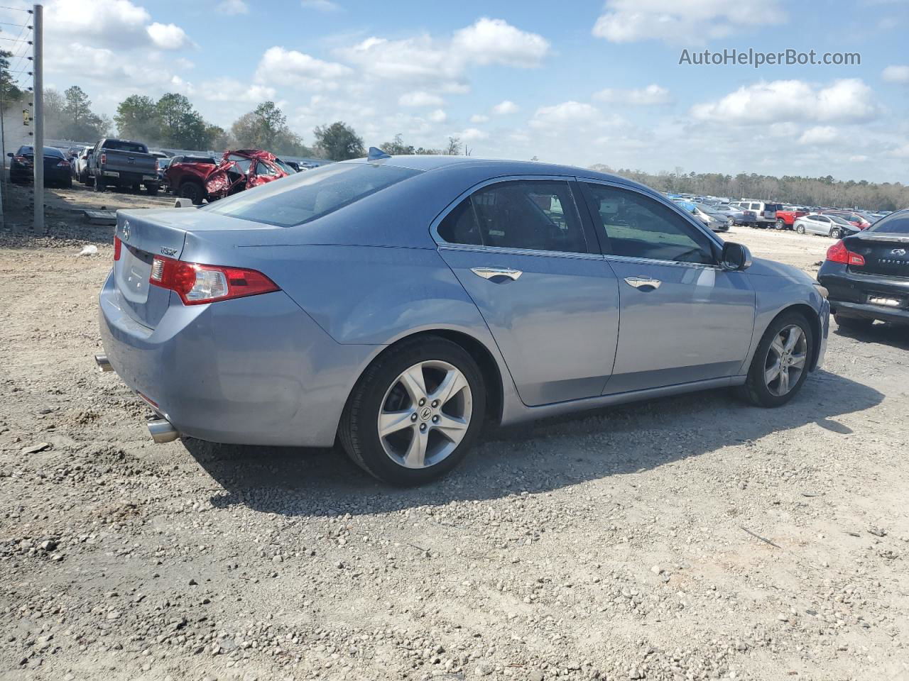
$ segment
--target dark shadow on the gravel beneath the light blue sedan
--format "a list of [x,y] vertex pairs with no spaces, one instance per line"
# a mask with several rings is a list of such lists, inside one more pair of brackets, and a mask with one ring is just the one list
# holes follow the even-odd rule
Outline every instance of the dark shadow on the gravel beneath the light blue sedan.
[[559,489],[807,424],[845,434],[851,430],[833,425],[836,417],[882,399],[877,390],[822,370],[775,410],[749,407],[730,399],[728,390],[712,390],[492,428],[453,473],[411,489],[372,479],[340,449],[183,443],[223,488],[211,498],[215,508],[242,505],[288,517],[359,515]]

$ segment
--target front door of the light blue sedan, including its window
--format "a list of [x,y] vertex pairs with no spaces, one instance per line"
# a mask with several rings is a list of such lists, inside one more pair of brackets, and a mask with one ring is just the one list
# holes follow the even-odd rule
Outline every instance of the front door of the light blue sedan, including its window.
[[619,341],[606,394],[735,375],[754,330],[754,290],[717,264],[715,237],[627,186],[584,181],[619,283]]

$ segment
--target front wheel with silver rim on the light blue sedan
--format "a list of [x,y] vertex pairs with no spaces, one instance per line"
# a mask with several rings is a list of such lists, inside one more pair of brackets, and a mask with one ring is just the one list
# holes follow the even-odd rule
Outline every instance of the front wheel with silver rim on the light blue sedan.
[[811,324],[798,312],[784,312],[764,331],[741,396],[757,407],[782,407],[801,390],[813,348]]

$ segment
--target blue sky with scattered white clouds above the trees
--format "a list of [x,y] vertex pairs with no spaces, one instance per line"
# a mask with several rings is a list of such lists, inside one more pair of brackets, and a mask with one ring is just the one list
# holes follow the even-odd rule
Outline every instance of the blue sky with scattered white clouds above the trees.
[[[264,99],[312,142],[345,120],[474,155],[650,172],[907,182],[906,0],[52,0],[45,81],[112,115],[187,94],[223,126]],[[694,66],[682,50],[856,52]]]

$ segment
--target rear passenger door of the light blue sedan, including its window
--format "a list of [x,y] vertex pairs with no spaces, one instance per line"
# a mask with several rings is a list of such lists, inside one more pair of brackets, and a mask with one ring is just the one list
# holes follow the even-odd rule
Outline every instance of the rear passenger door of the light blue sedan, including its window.
[[612,372],[618,283],[566,178],[474,187],[434,222],[529,406],[598,397]]

